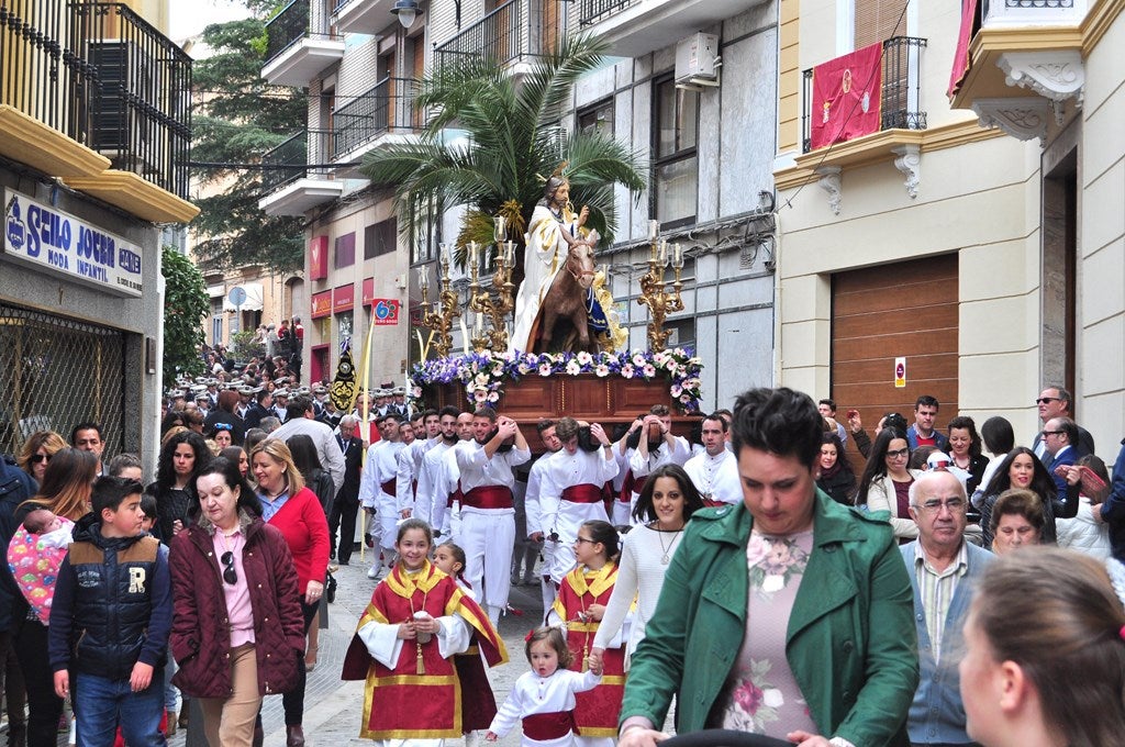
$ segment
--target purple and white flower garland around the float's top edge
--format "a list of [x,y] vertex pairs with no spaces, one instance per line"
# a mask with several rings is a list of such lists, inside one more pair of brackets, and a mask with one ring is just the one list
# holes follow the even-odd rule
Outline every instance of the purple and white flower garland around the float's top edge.
[[461,384],[471,405],[496,403],[507,382],[531,376],[611,376],[646,381],[665,378],[668,393],[684,412],[699,411],[700,374],[703,362],[690,348],[670,348],[652,352],[524,353],[519,351],[470,352],[415,363],[411,372],[412,392],[420,400],[426,386]]

